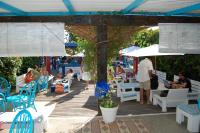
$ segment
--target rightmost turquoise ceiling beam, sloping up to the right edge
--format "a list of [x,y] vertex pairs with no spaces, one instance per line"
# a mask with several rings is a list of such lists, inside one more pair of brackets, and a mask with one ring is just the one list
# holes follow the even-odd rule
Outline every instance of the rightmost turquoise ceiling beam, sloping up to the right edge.
[[190,6],[186,6],[186,7],[176,9],[176,10],[173,10],[173,11],[169,11],[166,14],[176,15],[176,14],[182,14],[182,13],[189,13],[189,12],[194,11],[194,10],[200,10],[200,3],[190,5]]

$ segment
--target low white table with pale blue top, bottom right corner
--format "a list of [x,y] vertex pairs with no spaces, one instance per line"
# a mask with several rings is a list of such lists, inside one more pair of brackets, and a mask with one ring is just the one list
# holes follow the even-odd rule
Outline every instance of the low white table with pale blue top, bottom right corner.
[[176,122],[181,124],[184,116],[188,118],[187,129],[190,132],[199,132],[200,110],[197,104],[181,104],[176,108]]

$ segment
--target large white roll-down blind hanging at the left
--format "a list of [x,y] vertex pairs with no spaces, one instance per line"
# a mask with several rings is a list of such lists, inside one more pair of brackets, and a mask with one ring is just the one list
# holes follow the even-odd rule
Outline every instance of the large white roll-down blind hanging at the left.
[[0,57],[65,56],[64,23],[0,23]]

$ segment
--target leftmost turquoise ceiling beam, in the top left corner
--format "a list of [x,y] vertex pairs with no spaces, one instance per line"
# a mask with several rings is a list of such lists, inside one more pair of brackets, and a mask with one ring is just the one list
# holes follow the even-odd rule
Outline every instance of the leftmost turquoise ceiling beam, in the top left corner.
[[9,11],[10,13],[16,14],[16,15],[25,15],[26,12],[22,11],[21,9],[18,9],[14,6],[11,6],[5,2],[0,1],[0,8],[5,9]]

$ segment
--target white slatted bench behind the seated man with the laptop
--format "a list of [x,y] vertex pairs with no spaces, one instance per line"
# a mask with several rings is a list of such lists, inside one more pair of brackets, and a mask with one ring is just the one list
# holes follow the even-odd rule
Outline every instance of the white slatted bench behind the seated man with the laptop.
[[[174,81],[177,81],[179,77],[174,75]],[[192,92],[188,93],[188,100],[197,100],[200,98],[200,82],[190,79]]]

